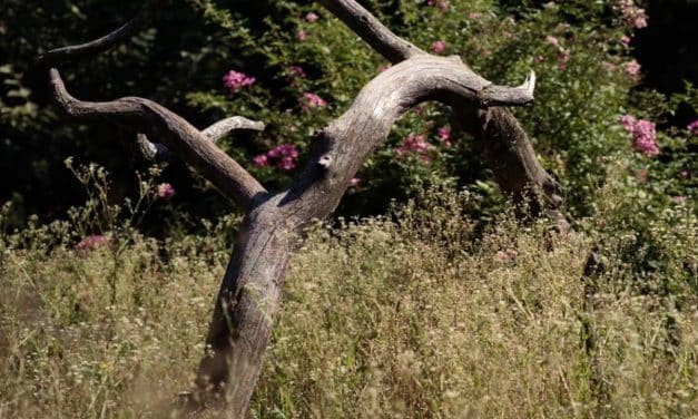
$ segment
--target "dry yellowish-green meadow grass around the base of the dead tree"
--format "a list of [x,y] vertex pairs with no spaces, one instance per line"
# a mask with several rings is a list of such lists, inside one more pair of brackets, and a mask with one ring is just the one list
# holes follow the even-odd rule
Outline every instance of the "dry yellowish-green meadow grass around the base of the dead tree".
[[[509,215],[482,232],[468,199],[432,193],[390,220],[312,230],[254,417],[698,415],[695,224],[653,236],[672,243],[663,271],[640,279],[608,251],[584,282],[592,238],[628,247],[601,233],[610,213],[583,234]],[[166,242],[115,234],[90,252],[67,244],[65,223],[2,235],[0,417],[176,415],[230,223]]]

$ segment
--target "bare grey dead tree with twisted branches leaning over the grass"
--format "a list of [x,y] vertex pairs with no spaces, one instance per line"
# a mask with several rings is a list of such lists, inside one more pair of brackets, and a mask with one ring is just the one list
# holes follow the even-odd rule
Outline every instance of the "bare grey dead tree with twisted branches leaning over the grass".
[[[49,51],[40,62],[55,67],[102,51],[137,31],[164,3],[151,0],[116,31],[88,43]],[[311,221],[332,214],[362,163],[411,107],[425,100],[451,106],[458,125],[480,144],[500,187],[515,201],[521,201],[527,189],[538,191],[542,201],[533,210],[562,220],[558,184],[540,166],[525,133],[504,107],[533,100],[533,72],[519,87],[498,86],[473,72],[456,56],[432,56],[401,39],[355,0],[322,3],[393,66],[375,76],[342,116],[311,139],[307,165],[287,189],[277,193],[267,192],[215,144],[216,138],[233,129],[262,129],[260,124],[228,118],[201,131],[147,99],[81,101],[70,96],[59,71],[50,68],[52,94],[68,116],[135,127],[142,133],[137,142],[146,155],[177,156],[245,212],[215,303],[206,338],[209,350],[200,362],[198,390],[194,392],[206,397],[225,389],[235,418],[246,416],[298,233]]]

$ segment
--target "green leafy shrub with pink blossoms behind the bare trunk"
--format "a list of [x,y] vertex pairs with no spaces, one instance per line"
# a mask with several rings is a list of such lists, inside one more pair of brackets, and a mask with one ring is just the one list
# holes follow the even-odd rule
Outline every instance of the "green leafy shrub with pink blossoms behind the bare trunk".
[[[578,218],[593,214],[596,203],[590,193],[604,184],[608,162],[616,158],[638,165],[631,168],[633,176],[648,169],[648,184],[666,181],[675,185],[671,196],[687,196],[692,202],[692,193],[680,189],[692,185],[695,176],[687,181],[678,174],[695,173],[691,159],[685,157],[695,142],[686,127],[696,120],[698,105],[685,101],[677,113],[679,105],[674,99],[652,96],[643,100],[638,94],[645,89],[638,85],[646,81],[646,62],[632,56],[638,45],[633,39],[652,23],[645,3],[423,0],[389,4],[367,0],[364,6],[420,48],[461,56],[495,84],[518,85],[533,69],[538,75],[535,103],[513,111],[545,169],[562,183],[567,211]],[[235,133],[220,146],[269,189],[287,185],[299,159],[271,157],[268,150],[284,144],[308,149],[314,133],[345,111],[366,82],[390,68],[385,59],[317,4],[273,3],[265,8],[264,19],[254,2],[230,7],[227,2],[191,1],[175,9],[180,13],[177,16],[190,19],[181,22],[180,30],[168,32],[178,37],[173,43],[181,45],[181,51],[173,53],[176,59],[163,58],[161,49],[156,48],[159,42],[150,38],[154,35],[144,33],[137,42],[142,51],[125,48],[130,48],[129,53],[153,53],[155,58],[138,71],[128,72],[129,77],[110,82],[106,80],[114,78],[107,77],[108,66],[96,62],[101,70],[95,72],[104,76],[96,86],[104,89],[105,97],[122,95],[132,82],[145,86],[139,95],[171,104],[200,127],[233,115],[264,121],[265,131]],[[134,61],[138,60],[129,65]],[[168,77],[153,86],[148,75],[163,68]],[[87,71],[76,70],[82,71],[76,77]],[[223,80],[216,75],[224,76]],[[24,113],[30,107],[12,109]],[[651,126],[640,124],[638,139],[630,133],[632,147],[628,147],[629,134],[618,125],[618,117],[625,114],[655,124],[653,136]],[[53,120],[48,115],[37,119]],[[449,133],[444,134],[440,128],[446,126]],[[405,144],[410,135],[414,144]],[[415,139],[417,135],[423,136],[421,142]],[[118,144],[116,139],[109,143]],[[658,145],[660,158],[645,158],[656,156]],[[631,153],[633,149],[639,153]],[[357,176],[362,187],[351,189],[352,197],[342,202],[343,215],[383,212],[391,197],[404,198],[419,185],[439,179],[479,188],[486,195],[482,207],[474,210],[479,215],[497,212],[503,198],[481,150],[452,124],[450,109],[434,103],[406,113]],[[201,194],[209,215],[225,207],[215,192],[197,182],[194,179],[194,188],[178,191],[183,197],[178,204],[199,207],[188,202],[200,199],[186,198],[206,191]],[[662,202],[666,196],[669,194]]]

